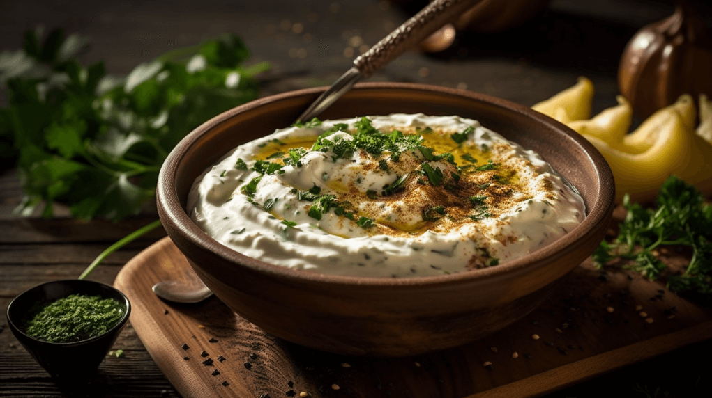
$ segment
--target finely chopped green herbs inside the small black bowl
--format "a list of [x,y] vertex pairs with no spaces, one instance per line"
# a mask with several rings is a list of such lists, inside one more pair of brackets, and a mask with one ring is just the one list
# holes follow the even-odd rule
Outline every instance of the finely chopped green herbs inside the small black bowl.
[[72,294],[38,306],[25,333],[49,343],[73,343],[107,332],[124,316],[125,308],[112,298]]

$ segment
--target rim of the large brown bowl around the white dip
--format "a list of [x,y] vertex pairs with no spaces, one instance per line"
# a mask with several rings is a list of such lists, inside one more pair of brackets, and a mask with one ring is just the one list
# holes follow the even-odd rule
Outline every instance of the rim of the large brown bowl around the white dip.
[[[467,90],[459,90],[451,87],[441,87],[436,85],[424,85],[418,83],[402,83],[402,82],[365,82],[355,85],[351,92],[367,91],[367,90],[413,90],[438,92],[440,94],[467,97],[477,102],[488,102],[499,108],[508,109],[511,112],[523,114],[529,119],[534,119],[538,124],[547,127],[548,129],[562,131],[569,136],[572,141],[575,141],[587,155],[589,161],[595,170],[595,179],[598,181],[598,191],[595,195],[593,203],[587,206],[587,215],[585,219],[577,225],[573,230],[561,237],[559,240],[536,250],[533,253],[527,254],[519,259],[514,259],[508,262],[498,264],[496,267],[486,267],[482,269],[474,269],[459,272],[449,275],[433,275],[433,276],[417,276],[412,278],[383,278],[377,276],[349,276],[322,274],[316,271],[303,271],[290,269],[276,264],[263,262],[259,259],[248,257],[244,254],[231,249],[224,244],[221,244],[214,238],[210,237],[200,229],[188,216],[187,212],[180,205],[176,190],[175,173],[179,163],[185,157],[187,152],[207,134],[208,131],[217,127],[234,117],[236,114],[249,111],[258,107],[262,107],[271,102],[279,102],[283,99],[291,97],[310,96],[317,97],[328,87],[314,87],[290,92],[283,92],[276,95],[270,95],[260,99],[253,100],[239,107],[234,107],[226,112],[223,112],[207,122],[204,122],[199,127],[191,131],[185,136],[179,144],[167,156],[161,170],[159,172],[156,198],[159,208],[159,216],[161,217],[167,231],[176,231],[187,241],[200,249],[211,252],[221,259],[231,262],[242,267],[248,267],[253,271],[258,271],[263,274],[270,274],[277,278],[298,279],[304,283],[323,284],[328,281],[329,284],[339,284],[345,286],[390,286],[399,289],[409,289],[414,286],[424,285],[452,285],[464,284],[471,279],[497,279],[504,276],[511,276],[525,271],[529,267],[538,264],[537,267],[543,267],[549,262],[553,262],[557,257],[564,257],[565,254],[572,251],[575,243],[585,240],[587,235],[594,230],[595,225],[604,222],[607,215],[610,215],[614,208],[614,183],[613,174],[600,152],[583,136],[567,127],[565,124],[557,122],[545,114],[541,114],[530,107],[511,102],[507,99],[501,99],[478,92]],[[346,93],[349,95],[349,92]],[[609,189],[607,189],[609,188]],[[590,238],[590,237],[589,237]],[[577,266],[574,264],[570,269]]]

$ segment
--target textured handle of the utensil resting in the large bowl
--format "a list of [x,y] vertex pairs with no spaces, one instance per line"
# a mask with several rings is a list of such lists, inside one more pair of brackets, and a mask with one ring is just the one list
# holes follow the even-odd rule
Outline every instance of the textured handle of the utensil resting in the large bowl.
[[417,45],[424,38],[453,21],[481,0],[434,0],[405,21],[396,30],[382,38],[370,50],[354,60],[354,65],[363,77],[370,77],[383,65],[391,62],[405,50]]

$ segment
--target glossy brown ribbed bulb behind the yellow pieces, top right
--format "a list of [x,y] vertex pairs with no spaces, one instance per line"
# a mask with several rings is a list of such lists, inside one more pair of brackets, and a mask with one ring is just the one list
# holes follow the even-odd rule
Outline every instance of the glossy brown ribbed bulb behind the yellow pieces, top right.
[[686,0],[677,1],[672,16],[633,36],[621,57],[618,85],[639,117],[683,94],[712,94],[712,41]]

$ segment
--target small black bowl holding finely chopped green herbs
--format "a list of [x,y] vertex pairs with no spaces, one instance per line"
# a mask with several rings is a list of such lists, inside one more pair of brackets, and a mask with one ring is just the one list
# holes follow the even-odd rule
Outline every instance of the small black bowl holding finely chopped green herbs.
[[[112,298],[124,306],[125,314],[106,333],[74,343],[48,343],[24,333],[26,319],[36,303],[44,305],[70,294]],[[130,313],[129,299],[112,286],[95,281],[70,279],[47,282],[15,297],[7,308],[7,323],[17,340],[50,375],[61,381],[86,380],[94,374],[120,331],[126,326]]]

